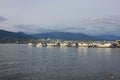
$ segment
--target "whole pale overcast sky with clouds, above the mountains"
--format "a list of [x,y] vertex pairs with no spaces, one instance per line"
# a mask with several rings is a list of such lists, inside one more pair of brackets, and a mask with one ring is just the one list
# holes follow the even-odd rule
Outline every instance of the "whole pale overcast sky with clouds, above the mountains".
[[120,34],[120,0],[0,0],[0,29]]

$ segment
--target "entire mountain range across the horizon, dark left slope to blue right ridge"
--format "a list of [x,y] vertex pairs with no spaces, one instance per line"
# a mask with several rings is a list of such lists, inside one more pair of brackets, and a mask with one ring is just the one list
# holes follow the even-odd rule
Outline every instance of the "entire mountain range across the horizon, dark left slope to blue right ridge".
[[37,33],[27,35],[23,32],[10,32],[0,30],[0,41],[16,41],[16,40],[29,40],[37,38],[51,38],[51,39],[63,39],[63,40],[116,40],[120,39],[120,36],[115,35],[97,35],[90,36],[83,33],[71,33],[71,32],[49,32],[49,33]]

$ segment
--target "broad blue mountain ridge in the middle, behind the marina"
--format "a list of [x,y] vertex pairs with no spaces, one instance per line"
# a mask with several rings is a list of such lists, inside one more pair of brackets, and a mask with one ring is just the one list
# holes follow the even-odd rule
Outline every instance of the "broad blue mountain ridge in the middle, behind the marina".
[[51,38],[51,39],[64,39],[64,40],[98,40],[93,36],[89,36],[82,33],[70,33],[70,32],[49,32],[49,33],[38,33],[31,34],[37,38]]

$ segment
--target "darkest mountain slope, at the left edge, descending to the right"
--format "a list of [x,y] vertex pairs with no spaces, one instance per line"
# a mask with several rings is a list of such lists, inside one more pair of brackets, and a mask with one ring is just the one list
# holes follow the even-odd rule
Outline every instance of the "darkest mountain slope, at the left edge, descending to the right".
[[27,35],[22,32],[10,32],[5,30],[0,30],[0,40],[7,40],[7,39],[32,39],[34,37]]

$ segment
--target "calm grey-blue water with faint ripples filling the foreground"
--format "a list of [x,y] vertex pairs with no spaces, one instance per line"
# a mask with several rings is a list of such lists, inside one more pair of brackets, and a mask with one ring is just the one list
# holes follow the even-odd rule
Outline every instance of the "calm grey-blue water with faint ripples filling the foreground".
[[120,80],[120,49],[0,44],[0,80]]

